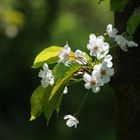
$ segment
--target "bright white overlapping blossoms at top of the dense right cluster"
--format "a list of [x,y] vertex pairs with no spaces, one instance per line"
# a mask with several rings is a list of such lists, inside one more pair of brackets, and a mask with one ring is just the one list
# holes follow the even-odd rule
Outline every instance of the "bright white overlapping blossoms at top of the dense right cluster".
[[90,34],[87,48],[90,50],[91,56],[102,58],[108,53],[109,44],[104,42],[103,36],[96,37],[95,34]]

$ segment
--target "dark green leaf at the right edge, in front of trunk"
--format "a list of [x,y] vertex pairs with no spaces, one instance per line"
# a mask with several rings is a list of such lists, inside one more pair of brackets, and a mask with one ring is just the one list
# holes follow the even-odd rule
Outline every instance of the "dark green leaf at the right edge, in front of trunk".
[[140,23],[140,8],[136,9],[132,16],[130,16],[127,26],[126,26],[126,31],[130,34],[133,35]]

